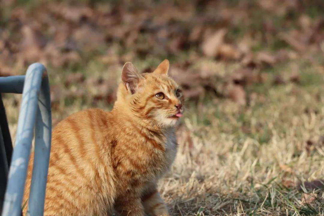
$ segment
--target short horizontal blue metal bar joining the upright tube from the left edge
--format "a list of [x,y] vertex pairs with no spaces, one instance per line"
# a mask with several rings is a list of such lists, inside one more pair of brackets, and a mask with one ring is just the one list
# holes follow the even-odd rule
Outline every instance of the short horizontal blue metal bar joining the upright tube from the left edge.
[[0,92],[21,94],[25,82],[25,76],[0,77]]

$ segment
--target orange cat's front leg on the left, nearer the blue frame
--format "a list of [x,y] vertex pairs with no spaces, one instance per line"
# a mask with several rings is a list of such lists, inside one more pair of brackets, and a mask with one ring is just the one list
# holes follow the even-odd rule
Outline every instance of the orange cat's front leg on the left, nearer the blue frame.
[[132,191],[116,200],[115,210],[120,216],[145,215],[140,195]]

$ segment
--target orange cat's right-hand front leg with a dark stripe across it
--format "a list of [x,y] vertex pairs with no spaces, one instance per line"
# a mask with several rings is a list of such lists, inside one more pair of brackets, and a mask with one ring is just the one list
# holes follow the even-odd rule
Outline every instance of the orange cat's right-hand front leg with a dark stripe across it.
[[169,216],[168,208],[165,205],[156,185],[150,185],[142,195],[142,202],[145,213],[149,216]]

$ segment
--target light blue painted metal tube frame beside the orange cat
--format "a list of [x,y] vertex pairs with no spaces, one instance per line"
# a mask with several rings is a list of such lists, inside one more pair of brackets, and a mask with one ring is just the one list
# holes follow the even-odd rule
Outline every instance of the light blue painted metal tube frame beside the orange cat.
[[22,93],[2,216],[21,215],[34,129],[34,166],[27,215],[43,215],[52,133],[50,89],[44,65],[30,65],[26,76],[0,77],[0,92]]

